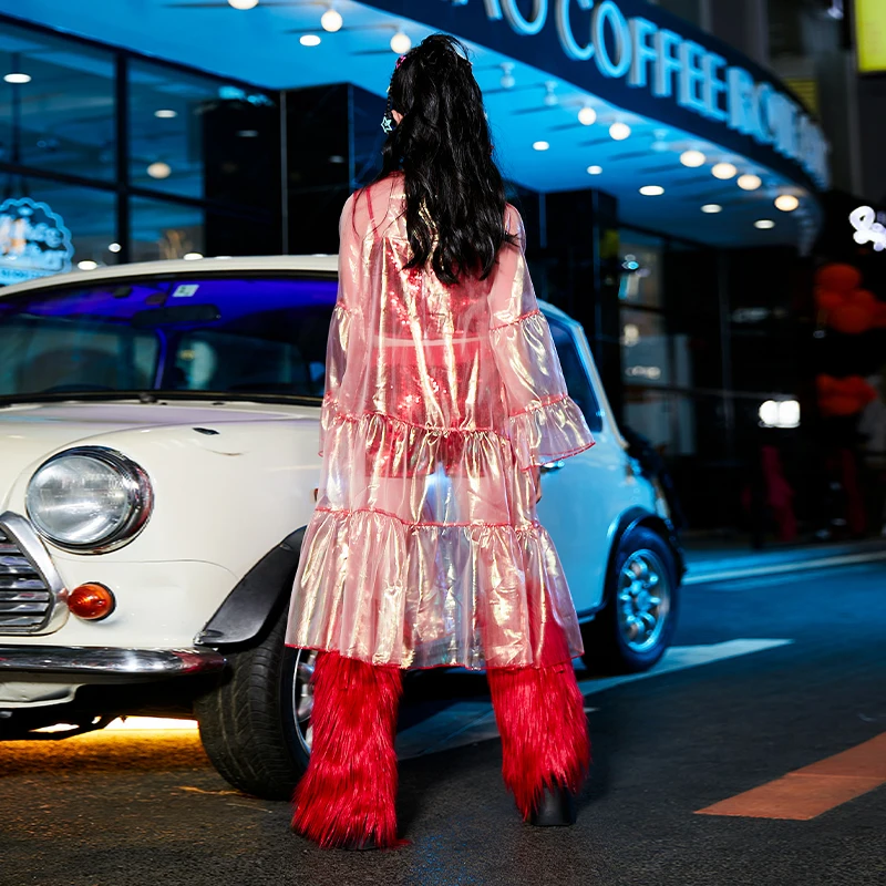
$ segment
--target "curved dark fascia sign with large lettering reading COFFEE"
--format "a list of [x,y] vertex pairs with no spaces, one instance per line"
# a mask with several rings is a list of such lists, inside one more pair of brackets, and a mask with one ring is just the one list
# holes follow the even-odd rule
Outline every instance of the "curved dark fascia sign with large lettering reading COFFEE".
[[830,185],[818,124],[770,71],[646,0],[371,0],[562,78],[617,107]]

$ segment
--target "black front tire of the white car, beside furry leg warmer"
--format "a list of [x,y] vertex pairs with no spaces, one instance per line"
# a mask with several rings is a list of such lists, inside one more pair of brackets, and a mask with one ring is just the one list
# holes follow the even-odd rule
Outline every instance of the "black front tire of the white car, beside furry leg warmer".
[[218,773],[264,800],[289,800],[310,755],[310,677],[316,653],[284,645],[287,610],[264,639],[226,656],[225,677],[194,702]]

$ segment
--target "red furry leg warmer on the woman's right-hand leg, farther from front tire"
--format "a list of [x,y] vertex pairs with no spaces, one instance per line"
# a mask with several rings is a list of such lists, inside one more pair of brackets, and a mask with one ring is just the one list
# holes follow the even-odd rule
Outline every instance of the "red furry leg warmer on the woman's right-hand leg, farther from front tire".
[[577,793],[590,764],[585,700],[569,661],[487,671],[505,785],[528,818],[545,787]]

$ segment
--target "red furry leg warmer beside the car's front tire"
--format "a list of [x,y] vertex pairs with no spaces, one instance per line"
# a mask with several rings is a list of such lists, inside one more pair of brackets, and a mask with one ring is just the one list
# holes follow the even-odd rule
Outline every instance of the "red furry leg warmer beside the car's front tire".
[[292,830],[323,848],[398,845],[400,669],[326,652],[317,658],[313,682],[313,746],[292,797]]

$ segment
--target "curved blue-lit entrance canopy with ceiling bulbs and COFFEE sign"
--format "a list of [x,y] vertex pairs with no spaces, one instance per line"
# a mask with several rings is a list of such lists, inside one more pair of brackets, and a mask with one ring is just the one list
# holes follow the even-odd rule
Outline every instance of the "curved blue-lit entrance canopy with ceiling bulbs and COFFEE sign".
[[[0,13],[257,86],[351,82],[379,95],[396,55],[444,30],[473,52],[503,172],[517,184],[599,188],[618,198],[622,223],[710,245],[814,238],[828,185],[816,123],[769,72],[645,0],[234,8],[250,3],[0,0]],[[27,66],[28,48],[16,51]]]

